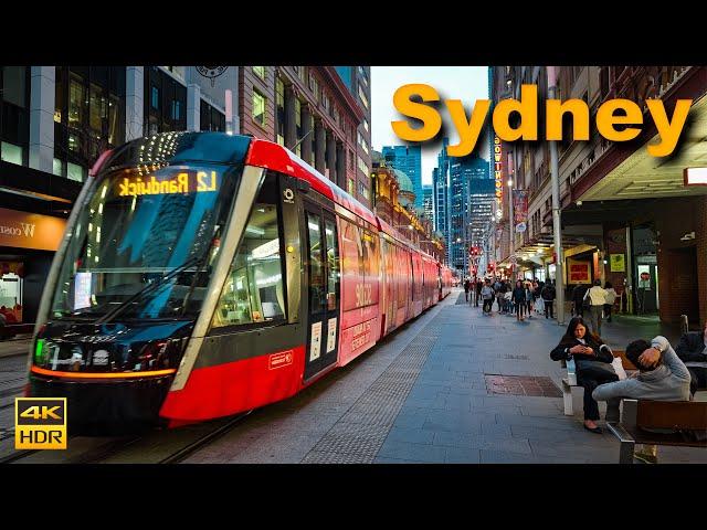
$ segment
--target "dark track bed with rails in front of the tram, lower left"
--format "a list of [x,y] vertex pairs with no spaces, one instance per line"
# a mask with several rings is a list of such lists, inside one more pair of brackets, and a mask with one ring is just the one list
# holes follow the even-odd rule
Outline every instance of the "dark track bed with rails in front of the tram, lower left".
[[[239,425],[246,413],[135,436],[72,436],[68,451],[18,451],[0,464],[178,464]],[[6,438],[14,433],[6,433]],[[73,446],[73,447],[72,447]]]

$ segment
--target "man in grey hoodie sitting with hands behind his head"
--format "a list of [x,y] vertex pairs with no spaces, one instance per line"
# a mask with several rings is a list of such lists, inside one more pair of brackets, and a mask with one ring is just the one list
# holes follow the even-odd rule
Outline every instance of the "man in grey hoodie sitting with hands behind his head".
[[[600,384],[592,392],[597,401],[620,398],[655,401],[689,401],[690,375],[665,337],[655,337],[651,343],[640,339],[626,347],[626,358],[639,369],[639,374],[613,383]],[[656,464],[657,446],[644,445],[634,457]]]

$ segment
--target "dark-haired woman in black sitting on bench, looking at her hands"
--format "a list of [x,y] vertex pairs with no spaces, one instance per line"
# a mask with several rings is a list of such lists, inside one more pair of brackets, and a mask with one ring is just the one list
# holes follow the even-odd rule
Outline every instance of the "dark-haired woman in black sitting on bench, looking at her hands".
[[619,377],[611,367],[614,360],[611,350],[601,338],[587,330],[582,317],[574,317],[567,327],[560,343],[550,352],[553,361],[574,359],[577,364],[577,384],[584,388],[584,428],[601,434],[599,405],[592,398],[597,386]]

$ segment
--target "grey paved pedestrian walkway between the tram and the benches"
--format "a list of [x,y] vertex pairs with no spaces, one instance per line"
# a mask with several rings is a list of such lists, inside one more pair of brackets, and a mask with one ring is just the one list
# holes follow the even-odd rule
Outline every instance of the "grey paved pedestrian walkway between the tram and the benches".
[[[549,352],[564,327],[495,309],[483,316],[453,292],[330,379],[255,411],[187,462],[616,464],[614,436],[582,427],[581,389],[574,416],[563,415],[564,370]],[[625,326],[611,326],[606,340],[625,346]],[[707,463],[698,448],[658,454],[662,464]]]

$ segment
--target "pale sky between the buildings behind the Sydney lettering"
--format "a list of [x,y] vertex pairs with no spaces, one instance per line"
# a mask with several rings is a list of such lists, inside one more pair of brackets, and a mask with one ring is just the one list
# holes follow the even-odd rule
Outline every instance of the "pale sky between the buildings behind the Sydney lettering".
[[[371,66],[371,142],[381,151],[383,146],[404,145],[395,136],[391,121],[404,119],[393,107],[393,94],[402,85],[424,83],[434,87],[444,99],[461,99],[471,115],[476,99],[488,99],[488,68],[486,66]],[[450,144],[457,142],[449,114],[442,110],[444,129],[450,131]],[[481,138],[479,138],[481,141]],[[422,183],[432,183],[432,169],[437,165],[441,140],[422,144]],[[488,145],[478,151],[488,160]]]

